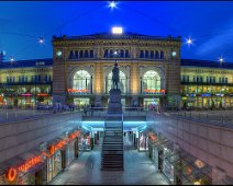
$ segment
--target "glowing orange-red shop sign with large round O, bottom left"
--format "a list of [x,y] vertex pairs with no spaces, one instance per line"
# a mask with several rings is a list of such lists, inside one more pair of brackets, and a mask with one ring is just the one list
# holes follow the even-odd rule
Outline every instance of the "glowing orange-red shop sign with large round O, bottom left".
[[10,167],[5,177],[9,182],[14,182],[19,172],[26,172],[30,170],[32,166],[43,162],[43,159],[41,155],[34,156],[30,160],[27,160],[24,164],[20,165],[19,167]]

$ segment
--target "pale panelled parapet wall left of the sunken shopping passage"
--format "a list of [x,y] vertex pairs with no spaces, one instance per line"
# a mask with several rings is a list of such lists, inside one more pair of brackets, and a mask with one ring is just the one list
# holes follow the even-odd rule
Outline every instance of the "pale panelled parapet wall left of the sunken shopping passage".
[[60,113],[0,124],[0,163],[71,130],[80,121],[80,113]]

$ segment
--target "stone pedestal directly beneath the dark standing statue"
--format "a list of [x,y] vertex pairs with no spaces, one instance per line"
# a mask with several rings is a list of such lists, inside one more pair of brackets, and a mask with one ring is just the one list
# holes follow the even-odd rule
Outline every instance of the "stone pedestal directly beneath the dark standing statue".
[[122,114],[121,91],[111,90],[109,98],[108,114]]

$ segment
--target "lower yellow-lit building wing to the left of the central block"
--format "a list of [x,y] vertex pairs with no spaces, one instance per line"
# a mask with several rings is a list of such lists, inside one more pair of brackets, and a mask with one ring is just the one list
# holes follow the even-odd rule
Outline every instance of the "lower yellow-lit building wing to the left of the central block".
[[0,105],[52,104],[53,59],[0,62]]

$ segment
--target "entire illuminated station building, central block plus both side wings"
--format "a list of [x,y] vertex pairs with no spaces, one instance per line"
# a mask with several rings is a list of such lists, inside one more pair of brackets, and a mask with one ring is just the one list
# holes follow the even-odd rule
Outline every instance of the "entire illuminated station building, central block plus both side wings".
[[54,36],[53,59],[0,62],[0,105],[107,106],[116,60],[123,106],[233,107],[233,65],[180,59],[180,45],[131,33]]

